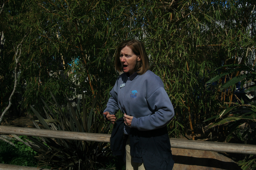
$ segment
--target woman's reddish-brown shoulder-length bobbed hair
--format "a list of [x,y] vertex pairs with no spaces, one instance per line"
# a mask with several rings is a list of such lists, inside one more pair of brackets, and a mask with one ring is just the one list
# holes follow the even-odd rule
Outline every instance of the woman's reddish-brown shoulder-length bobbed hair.
[[136,66],[134,68],[134,71],[137,71],[138,74],[144,74],[150,67],[149,65],[149,59],[146,54],[146,50],[144,45],[136,40],[136,39],[130,39],[123,41],[117,48],[117,53],[115,56],[115,69],[119,72],[123,71],[122,64],[120,62],[120,52],[123,48],[126,46],[130,47],[132,52],[136,55],[140,55],[141,60],[136,63]]

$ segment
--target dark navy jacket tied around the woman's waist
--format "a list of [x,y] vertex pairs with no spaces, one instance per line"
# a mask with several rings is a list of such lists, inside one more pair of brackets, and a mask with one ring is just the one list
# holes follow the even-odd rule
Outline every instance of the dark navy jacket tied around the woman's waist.
[[[133,162],[144,164],[146,170],[171,170],[174,165],[167,126],[151,131],[131,128],[130,148]],[[119,118],[110,138],[113,155],[125,156],[124,118]]]

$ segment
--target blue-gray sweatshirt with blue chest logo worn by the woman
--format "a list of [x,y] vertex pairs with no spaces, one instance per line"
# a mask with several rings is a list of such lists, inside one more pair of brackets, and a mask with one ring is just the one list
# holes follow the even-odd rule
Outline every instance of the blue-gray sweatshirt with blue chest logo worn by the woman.
[[[104,112],[115,114],[120,109],[133,116],[131,128],[140,131],[162,128],[174,116],[162,80],[150,70],[142,75],[134,73],[130,77],[123,73],[116,80],[110,95]],[[125,126],[126,134],[129,134],[129,129]]]

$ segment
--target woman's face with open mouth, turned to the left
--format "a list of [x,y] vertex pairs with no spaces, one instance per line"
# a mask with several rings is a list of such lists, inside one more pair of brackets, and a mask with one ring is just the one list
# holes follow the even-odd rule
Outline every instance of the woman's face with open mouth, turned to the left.
[[125,46],[120,51],[120,62],[123,67],[123,71],[125,73],[129,73],[129,75],[133,74],[135,72],[134,68],[136,66],[136,63],[141,61],[140,55],[136,55],[132,52],[131,48],[128,46]]

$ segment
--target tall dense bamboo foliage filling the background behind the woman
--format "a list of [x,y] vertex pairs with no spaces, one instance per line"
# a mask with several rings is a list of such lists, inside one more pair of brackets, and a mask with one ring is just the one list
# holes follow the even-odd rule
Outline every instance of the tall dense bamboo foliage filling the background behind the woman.
[[[125,39],[139,39],[150,56],[150,69],[163,80],[175,107],[171,137],[202,133],[207,125],[203,121],[233,98],[232,89],[205,87],[215,76],[209,73],[225,64],[255,62],[254,5],[233,0],[9,0],[1,13],[5,24],[0,28],[8,40],[1,65],[7,62],[13,69],[12,42],[30,31],[20,61],[23,107],[39,107],[40,96],[53,102],[50,91],[59,103],[65,95],[86,91],[90,102],[99,95],[104,105],[118,76],[113,68],[116,47]],[[7,74],[2,77],[9,82]],[[1,86],[6,89],[7,83]]]

